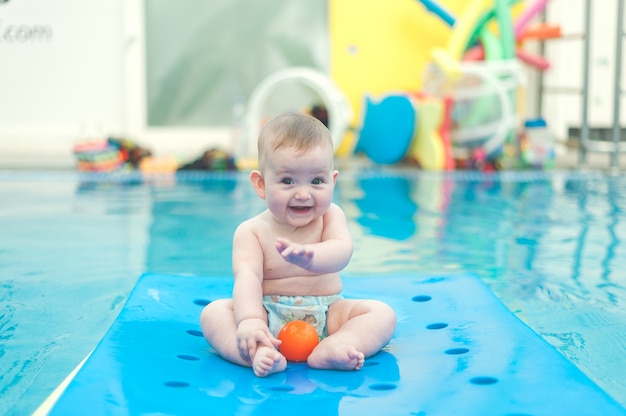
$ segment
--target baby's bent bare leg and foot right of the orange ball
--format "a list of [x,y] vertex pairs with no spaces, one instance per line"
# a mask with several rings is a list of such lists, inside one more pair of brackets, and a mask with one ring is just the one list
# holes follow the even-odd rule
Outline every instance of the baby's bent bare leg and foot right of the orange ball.
[[313,368],[360,370],[365,358],[384,347],[396,328],[396,315],[376,300],[342,299],[328,309],[328,337],[307,362]]

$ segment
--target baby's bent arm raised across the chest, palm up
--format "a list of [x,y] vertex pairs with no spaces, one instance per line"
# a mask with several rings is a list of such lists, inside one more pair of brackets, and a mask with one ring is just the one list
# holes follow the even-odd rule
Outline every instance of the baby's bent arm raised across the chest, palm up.
[[277,238],[276,249],[288,262],[314,273],[343,270],[352,257],[352,237],[346,216],[339,206],[332,204],[324,215],[320,243],[296,244],[286,238]]

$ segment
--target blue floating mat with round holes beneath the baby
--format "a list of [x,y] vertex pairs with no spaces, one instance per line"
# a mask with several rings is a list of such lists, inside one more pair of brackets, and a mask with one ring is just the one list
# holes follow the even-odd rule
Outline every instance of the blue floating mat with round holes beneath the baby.
[[344,278],[389,303],[394,337],[361,371],[290,363],[257,378],[198,324],[226,277],[145,274],[52,415],[625,415],[476,276]]

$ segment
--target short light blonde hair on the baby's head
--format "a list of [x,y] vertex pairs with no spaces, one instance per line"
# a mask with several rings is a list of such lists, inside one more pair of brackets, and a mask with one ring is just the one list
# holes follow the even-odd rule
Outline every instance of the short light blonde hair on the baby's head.
[[259,169],[262,169],[267,153],[281,147],[293,147],[299,154],[315,147],[328,147],[332,152],[333,140],[328,128],[315,117],[288,113],[274,117],[263,126],[257,146]]

